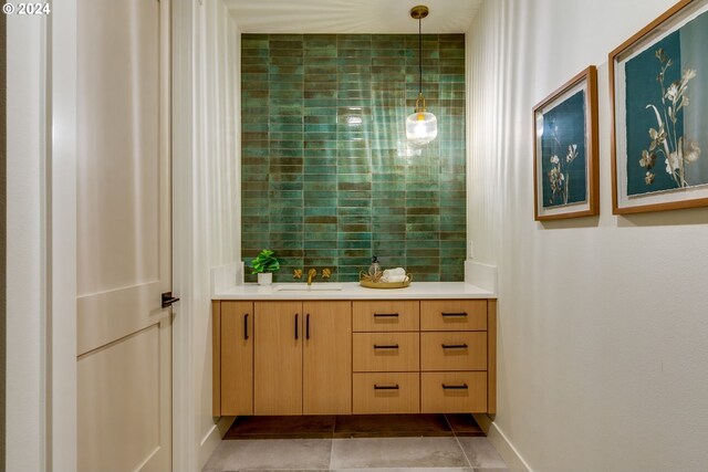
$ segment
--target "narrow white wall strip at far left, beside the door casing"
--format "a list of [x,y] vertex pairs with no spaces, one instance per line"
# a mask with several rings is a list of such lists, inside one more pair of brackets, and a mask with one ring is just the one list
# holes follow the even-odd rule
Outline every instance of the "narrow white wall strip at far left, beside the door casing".
[[44,466],[45,23],[8,17],[7,444],[2,470]]

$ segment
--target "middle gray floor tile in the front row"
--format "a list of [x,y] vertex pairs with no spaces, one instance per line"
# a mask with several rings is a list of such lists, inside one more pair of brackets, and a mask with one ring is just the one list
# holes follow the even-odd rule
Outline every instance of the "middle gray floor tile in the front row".
[[467,466],[456,438],[353,438],[332,442],[332,470]]

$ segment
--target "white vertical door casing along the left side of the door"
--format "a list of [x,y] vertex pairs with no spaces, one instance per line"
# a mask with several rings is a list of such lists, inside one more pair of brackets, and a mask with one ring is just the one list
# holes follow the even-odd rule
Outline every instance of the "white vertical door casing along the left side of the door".
[[76,470],[76,0],[51,14],[51,359],[48,470]]

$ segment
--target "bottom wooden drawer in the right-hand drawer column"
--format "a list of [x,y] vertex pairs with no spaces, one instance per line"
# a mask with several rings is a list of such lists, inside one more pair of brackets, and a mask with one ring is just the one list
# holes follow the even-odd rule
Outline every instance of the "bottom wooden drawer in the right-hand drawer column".
[[487,373],[424,373],[420,376],[421,412],[487,411]]

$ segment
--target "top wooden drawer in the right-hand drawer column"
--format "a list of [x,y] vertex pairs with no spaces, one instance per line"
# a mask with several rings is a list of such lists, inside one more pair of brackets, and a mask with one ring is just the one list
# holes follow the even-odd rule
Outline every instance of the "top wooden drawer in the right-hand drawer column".
[[435,300],[420,302],[421,331],[485,331],[486,300]]

